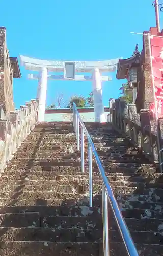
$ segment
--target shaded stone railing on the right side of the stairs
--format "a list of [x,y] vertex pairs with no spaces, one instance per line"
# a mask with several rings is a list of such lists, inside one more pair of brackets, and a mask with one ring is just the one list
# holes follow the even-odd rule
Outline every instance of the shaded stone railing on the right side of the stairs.
[[[134,104],[127,105],[125,101],[112,99],[107,121],[112,122],[114,129],[138,146],[150,161],[158,163],[158,152],[163,148],[163,119],[158,120],[157,127],[149,110],[142,109],[137,114]],[[160,156],[160,163],[162,159]]]

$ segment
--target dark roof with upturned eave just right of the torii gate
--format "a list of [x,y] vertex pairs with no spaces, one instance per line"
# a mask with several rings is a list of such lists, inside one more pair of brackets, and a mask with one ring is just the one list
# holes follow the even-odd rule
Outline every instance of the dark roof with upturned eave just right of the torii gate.
[[134,52],[133,56],[128,59],[120,59],[117,68],[117,79],[125,79],[128,69],[130,67],[136,67],[140,63],[140,52]]

